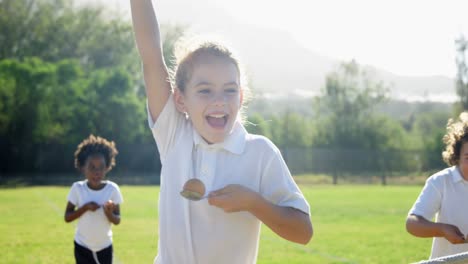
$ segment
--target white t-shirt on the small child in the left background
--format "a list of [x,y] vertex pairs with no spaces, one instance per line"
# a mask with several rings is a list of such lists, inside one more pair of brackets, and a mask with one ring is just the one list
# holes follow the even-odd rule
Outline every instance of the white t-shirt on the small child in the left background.
[[68,201],[80,208],[88,202],[95,202],[101,207],[96,211],[86,211],[78,219],[75,232],[75,241],[92,251],[99,251],[112,244],[111,222],[104,214],[104,205],[108,200],[115,204],[123,202],[119,186],[111,181],[106,181],[106,185],[101,190],[92,190],[88,187],[87,181],[73,183]]

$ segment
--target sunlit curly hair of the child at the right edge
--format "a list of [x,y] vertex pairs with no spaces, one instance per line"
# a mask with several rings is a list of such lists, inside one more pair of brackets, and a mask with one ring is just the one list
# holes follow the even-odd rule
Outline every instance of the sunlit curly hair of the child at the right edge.
[[461,113],[459,119],[458,122],[449,119],[447,133],[443,138],[446,147],[442,158],[449,166],[458,165],[463,143],[468,142],[468,112]]

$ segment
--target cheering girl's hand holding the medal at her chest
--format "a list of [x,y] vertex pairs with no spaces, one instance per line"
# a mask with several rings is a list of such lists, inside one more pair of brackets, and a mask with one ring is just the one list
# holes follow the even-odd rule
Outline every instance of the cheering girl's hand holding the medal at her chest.
[[208,195],[208,203],[227,213],[250,211],[260,194],[238,184],[230,184]]

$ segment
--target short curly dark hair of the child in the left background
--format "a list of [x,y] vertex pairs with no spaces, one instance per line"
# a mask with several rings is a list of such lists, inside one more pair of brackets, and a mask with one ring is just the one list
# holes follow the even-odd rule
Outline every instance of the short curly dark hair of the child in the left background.
[[88,157],[101,154],[104,156],[106,168],[109,171],[115,166],[115,156],[118,153],[114,141],[91,134],[78,144],[75,151],[75,168],[79,170],[85,165]]

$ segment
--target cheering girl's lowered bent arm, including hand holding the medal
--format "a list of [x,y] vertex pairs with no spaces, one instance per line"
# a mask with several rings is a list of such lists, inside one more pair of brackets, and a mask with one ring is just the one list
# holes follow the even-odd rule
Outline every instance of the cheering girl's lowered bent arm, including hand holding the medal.
[[276,234],[292,242],[307,244],[313,229],[308,214],[278,206],[241,185],[228,185],[210,193],[208,202],[225,212],[248,211]]

